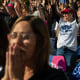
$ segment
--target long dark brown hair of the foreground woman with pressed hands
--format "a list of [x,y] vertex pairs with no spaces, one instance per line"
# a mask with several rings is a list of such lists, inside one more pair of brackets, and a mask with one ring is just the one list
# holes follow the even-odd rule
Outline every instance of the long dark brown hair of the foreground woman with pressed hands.
[[[36,52],[35,52],[35,62],[37,66],[37,71],[40,69],[44,69],[48,67],[48,58],[49,58],[49,50],[50,50],[50,41],[49,41],[49,32],[46,28],[46,25],[42,19],[39,17],[33,16],[24,16],[20,17],[13,25],[13,29],[15,25],[21,21],[28,21],[32,27],[33,32],[37,36],[37,44],[36,44]],[[13,30],[12,29],[12,30]]]

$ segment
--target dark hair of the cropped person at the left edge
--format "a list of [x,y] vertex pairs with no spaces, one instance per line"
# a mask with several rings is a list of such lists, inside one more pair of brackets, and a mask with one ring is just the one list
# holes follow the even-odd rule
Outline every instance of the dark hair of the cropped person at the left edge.
[[9,32],[10,32],[10,30],[9,30],[8,25],[3,20],[3,18],[0,16],[0,57],[3,59],[5,58],[5,53],[6,53],[6,50],[8,48],[7,34]]

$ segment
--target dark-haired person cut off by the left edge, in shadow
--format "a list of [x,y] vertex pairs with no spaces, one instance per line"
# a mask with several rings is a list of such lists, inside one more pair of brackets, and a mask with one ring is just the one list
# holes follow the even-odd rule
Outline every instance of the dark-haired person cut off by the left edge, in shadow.
[[9,27],[0,16],[0,78],[3,76],[5,67],[5,53],[8,47],[7,34],[9,33]]

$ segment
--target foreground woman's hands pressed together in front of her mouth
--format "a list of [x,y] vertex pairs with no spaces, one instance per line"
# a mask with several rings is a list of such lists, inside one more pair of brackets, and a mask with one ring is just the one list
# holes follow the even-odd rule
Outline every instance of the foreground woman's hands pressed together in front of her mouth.
[[6,53],[6,65],[4,77],[1,80],[23,80],[24,76],[24,56],[21,48],[13,44]]

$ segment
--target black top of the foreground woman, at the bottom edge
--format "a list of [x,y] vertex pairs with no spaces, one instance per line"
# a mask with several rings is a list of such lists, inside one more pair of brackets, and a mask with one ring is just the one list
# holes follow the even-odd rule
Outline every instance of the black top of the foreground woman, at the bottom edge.
[[38,74],[35,74],[29,80],[67,80],[67,76],[62,70],[48,68]]

